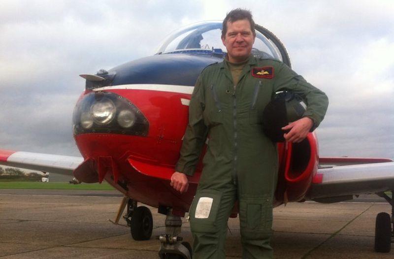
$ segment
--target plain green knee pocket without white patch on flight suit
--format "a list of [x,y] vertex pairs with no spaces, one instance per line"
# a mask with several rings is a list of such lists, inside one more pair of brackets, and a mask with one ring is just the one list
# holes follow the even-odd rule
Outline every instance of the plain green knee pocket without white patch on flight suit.
[[265,239],[272,234],[272,199],[240,198],[241,234],[247,239]]

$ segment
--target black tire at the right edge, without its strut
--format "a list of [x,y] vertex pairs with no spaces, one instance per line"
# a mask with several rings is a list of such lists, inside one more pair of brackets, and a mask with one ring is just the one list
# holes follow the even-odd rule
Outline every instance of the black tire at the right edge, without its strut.
[[381,212],[376,216],[375,251],[389,253],[391,249],[391,237],[391,217],[388,213]]

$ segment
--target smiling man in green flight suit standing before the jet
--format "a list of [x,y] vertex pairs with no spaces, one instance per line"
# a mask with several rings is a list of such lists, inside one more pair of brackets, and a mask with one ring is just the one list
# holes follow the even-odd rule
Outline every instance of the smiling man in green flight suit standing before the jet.
[[[223,21],[224,62],[207,66],[197,79],[189,124],[171,186],[183,193],[208,136],[208,148],[189,211],[194,259],[225,258],[227,221],[239,202],[242,258],[272,258],[272,201],[277,183],[276,144],[262,130],[262,114],[275,92],[304,97],[303,118],[284,127],[299,142],[326,113],[327,96],[283,63],[251,56],[255,24],[250,11],[235,9]],[[263,71],[263,72],[262,72]],[[260,72],[260,73],[259,73]]]

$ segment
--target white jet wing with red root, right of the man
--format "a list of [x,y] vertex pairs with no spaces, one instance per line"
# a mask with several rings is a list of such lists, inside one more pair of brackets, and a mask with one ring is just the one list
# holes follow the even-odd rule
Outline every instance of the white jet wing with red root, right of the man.
[[392,191],[394,190],[394,162],[387,161],[391,162],[319,168],[313,178],[308,196],[316,200]]

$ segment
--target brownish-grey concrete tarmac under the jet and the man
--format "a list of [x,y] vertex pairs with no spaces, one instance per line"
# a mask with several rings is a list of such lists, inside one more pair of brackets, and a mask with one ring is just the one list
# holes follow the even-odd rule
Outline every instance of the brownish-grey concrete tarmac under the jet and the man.
[[[115,191],[0,190],[2,259],[158,259],[165,216],[150,207],[150,240],[135,241],[130,228],[115,226],[122,197]],[[274,209],[272,247],[276,259],[393,259],[373,251],[375,217],[391,212],[379,198],[322,204],[289,203]],[[241,258],[238,218],[230,219],[226,242],[229,259]],[[192,242],[189,223],[184,241]]]

